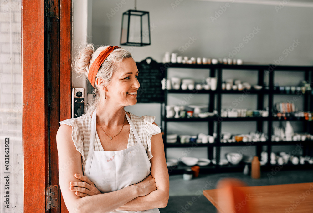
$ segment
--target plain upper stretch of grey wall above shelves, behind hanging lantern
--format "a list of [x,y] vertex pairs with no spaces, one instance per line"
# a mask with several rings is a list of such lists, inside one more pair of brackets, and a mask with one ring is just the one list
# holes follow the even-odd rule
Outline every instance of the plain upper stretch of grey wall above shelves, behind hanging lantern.
[[[219,12],[225,2],[176,2],[180,3],[172,8],[174,0],[138,1],[137,9],[149,11],[150,22],[155,27],[151,29],[151,46],[131,51],[136,61],[151,56],[161,62],[165,51],[181,53],[179,47],[194,37],[197,40],[182,55],[223,58],[234,46],[243,43],[244,47],[235,57],[246,62],[269,64],[279,56],[284,57],[282,64],[311,65],[313,62],[312,7],[285,6],[276,12],[273,5],[229,3],[226,11],[212,22],[210,17]],[[134,3],[126,0],[121,9],[116,3],[121,0],[93,0],[92,42],[95,45],[120,44],[122,13],[133,9]],[[109,19],[107,14],[114,8],[118,12]],[[261,30],[245,43],[243,38],[249,36],[254,27]],[[282,52],[297,39],[299,45],[285,57]]]

